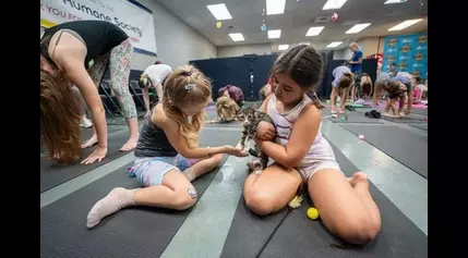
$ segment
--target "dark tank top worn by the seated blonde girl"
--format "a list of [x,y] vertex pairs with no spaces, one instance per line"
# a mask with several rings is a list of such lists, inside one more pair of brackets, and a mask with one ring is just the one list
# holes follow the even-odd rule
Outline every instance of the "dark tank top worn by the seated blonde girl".
[[176,157],[178,153],[170,145],[166,133],[153,124],[151,115],[145,119],[136,143],[135,157]]

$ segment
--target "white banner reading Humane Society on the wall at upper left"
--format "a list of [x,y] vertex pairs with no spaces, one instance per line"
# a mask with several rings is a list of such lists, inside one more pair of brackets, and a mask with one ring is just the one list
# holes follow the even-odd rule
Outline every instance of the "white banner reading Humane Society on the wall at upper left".
[[135,51],[157,53],[153,13],[134,0],[40,0],[41,26],[80,20],[111,22],[129,35]]

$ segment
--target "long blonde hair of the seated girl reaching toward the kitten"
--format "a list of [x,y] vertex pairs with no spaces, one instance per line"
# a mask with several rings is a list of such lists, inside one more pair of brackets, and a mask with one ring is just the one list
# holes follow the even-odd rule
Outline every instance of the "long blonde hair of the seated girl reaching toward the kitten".
[[189,123],[181,108],[205,103],[211,97],[209,79],[192,65],[176,69],[166,79],[163,107],[167,116],[179,125],[180,133],[185,137],[189,148],[196,148],[206,113],[202,110],[192,115],[192,122]]

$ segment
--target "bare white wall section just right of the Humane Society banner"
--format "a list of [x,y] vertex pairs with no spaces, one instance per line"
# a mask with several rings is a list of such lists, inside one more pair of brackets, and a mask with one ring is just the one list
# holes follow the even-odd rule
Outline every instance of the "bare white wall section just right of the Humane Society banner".
[[156,60],[177,67],[190,60],[216,58],[216,47],[155,0],[139,0],[153,11],[157,58],[134,53],[132,69],[144,70]]

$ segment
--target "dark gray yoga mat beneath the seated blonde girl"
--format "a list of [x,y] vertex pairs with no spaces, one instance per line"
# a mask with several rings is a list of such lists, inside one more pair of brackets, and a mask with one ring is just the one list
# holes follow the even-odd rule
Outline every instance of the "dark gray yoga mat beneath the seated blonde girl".
[[[201,146],[236,145],[238,137],[202,133]],[[223,163],[227,156],[224,157]],[[129,164],[131,165],[131,163]],[[86,216],[96,201],[113,187],[139,187],[129,177],[127,168],[52,202],[40,210],[40,256],[47,258],[143,258],[159,257],[182,225],[191,209],[175,211],[160,208],[134,207],[105,218],[93,230],[86,229]],[[193,182],[202,197],[217,170]],[[216,216],[216,214],[214,214]]]

